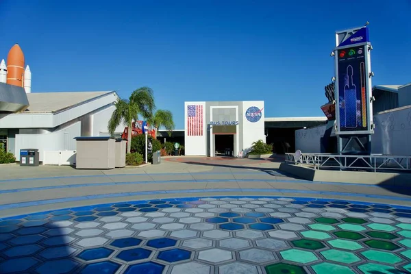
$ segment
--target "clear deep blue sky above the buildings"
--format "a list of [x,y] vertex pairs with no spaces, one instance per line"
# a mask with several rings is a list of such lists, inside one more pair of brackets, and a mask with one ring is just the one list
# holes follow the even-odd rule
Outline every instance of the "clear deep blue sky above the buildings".
[[410,0],[0,0],[0,59],[21,45],[32,92],[149,86],[179,129],[184,101],[323,116],[334,32],[369,21],[373,84],[407,84],[410,14]]

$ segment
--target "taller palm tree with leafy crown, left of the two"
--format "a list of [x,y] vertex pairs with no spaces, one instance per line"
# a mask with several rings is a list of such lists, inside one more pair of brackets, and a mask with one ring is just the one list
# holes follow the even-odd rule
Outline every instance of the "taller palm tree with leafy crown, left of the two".
[[114,105],[116,109],[108,121],[108,132],[113,135],[116,127],[121,124],[127,125],[129,129],[127,153],[130,153],[133,121],[138,121],[138,115],[141,115],[144,119],[153,116],[153,110],[155,109],[153,90],[147,87],[138,88],[132,92],[128,100],[118,99]]

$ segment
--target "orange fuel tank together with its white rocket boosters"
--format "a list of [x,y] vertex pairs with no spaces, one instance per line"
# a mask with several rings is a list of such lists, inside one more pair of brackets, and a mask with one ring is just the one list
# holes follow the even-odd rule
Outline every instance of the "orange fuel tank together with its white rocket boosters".
[[29,65],[25,68],[24,54],[19,45],[14,45],[7,56],[7,65],[4,59],[0,63],[0,83],[21,86],[26,93],[32,92],[32,72]]

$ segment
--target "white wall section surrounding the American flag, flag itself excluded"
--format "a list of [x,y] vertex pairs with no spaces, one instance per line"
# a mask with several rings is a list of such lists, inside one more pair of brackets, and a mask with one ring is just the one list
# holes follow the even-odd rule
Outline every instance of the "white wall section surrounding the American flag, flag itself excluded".
[[[188,105],[203,105],[203,135],[188,136]],[[184,102],[184,149],[186,155],[206,156],[207,155],[207,125],[206,125],[206,102]]]

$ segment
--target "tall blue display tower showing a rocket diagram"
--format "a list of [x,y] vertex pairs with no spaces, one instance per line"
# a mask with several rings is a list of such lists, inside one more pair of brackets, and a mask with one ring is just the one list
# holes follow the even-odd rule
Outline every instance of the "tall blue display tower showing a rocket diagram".
[[335,65],[335,132],[340,154],[371,154],[371,134],[374,133],[373,47],[366,25],[336,32],[336,48],[332,55]]

